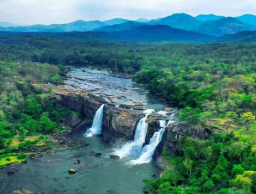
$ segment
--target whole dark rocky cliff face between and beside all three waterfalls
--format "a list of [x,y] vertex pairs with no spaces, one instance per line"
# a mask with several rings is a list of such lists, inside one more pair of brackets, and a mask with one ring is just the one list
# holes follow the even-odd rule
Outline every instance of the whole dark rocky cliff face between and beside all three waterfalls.
[[[61,107],[69,108],[70,110],[79,111],[82,115],[80,122],[76,118],[77,126],[75,128],[88,128],[88,119],[92,120],[95,112],[102,103],[107,104],[101,98],[94,98],[93,96],[75,96],[75,95],[59,95],[56,104]],[[126,142],[132,140],[135,132],[135,127],[140,118],[144,117],[139,111],[118,108],[113,105],[106,105],[104,107],[103,129],[102,136],[104,140],[111,144]],[[148,132],[146,135],[146,143],[150,142],[154,132],[159,129],[159,120],[163,118],[149,116],[146,122],[148,123]],[[159,143],[155,153],[154,160],[157,165],[163,168],[161,164],[163,158],[160,157],[163,149],[170,155],[176,156],[180,154],[180,139],[182,136],[197,139],[207,139],[211,135],[211,130],[201,129],[197,130],[182,123],[172,123],[166,129],[162,142]]]

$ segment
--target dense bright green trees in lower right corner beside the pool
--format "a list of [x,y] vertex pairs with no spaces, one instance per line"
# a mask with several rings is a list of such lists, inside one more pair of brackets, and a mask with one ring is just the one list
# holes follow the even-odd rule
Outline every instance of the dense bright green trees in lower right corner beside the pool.
[[204,141],[184,136],[180,140],[180,157],[168,157],[168,152],[163,151],[169,159],[169,170],[157,180],[145,180],[145,189],[157,194],[253,193],[254,140],[242,142],[224,132]]

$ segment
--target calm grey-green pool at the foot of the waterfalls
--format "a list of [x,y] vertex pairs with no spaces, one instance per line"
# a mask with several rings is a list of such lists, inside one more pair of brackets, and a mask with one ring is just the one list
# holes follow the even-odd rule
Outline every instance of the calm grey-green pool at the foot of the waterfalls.
[[[158,176],[153,164],[130,166],[128,160],[110,159],[113,147],[100,137],[84,137],[85,131],[75,130],[70,138],[89,143],[86,147],[46,153],[29,158],[27,164],[9,165],[1,170],[0,190],[3,193],[142,194],[142,180],[152,178],[152,174]],[[96,157],[96,153],[101,156]],[[77,160],[79,164],[74,164]],[[69,168],[74,168],[76,173],[69,174]],[[10,169],[14,174],[8,174]]]

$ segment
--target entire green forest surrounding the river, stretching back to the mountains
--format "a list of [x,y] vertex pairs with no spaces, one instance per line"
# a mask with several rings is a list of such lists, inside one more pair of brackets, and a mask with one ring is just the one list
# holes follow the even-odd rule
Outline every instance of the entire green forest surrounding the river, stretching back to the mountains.
[[32,83],[61,83],[59,64],[95,65],[135,74],[135,82],[184,107],[181,122],[215,131],[205,141],[182,137],[179,157],[163,151],[170,169],[157,180],[145,180],[147,190],[256,193],[256,45],[82,42],[29,35],[2,37],[0,43],[0,148],[17,133],[52,133],[61,117],[57,112],[62,111],[47,101],[51,92],[42,95]]

